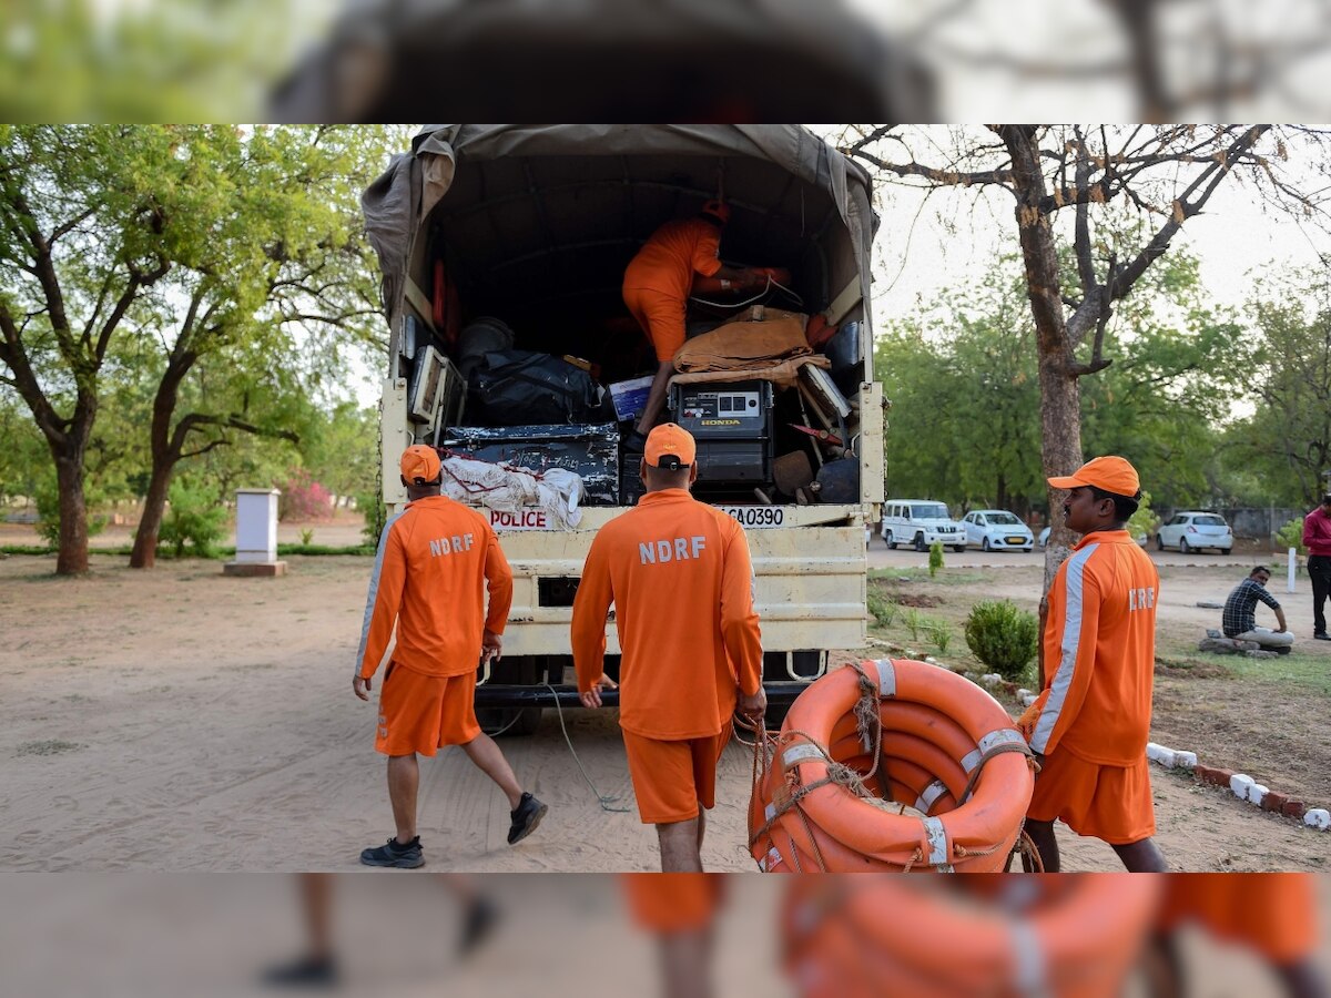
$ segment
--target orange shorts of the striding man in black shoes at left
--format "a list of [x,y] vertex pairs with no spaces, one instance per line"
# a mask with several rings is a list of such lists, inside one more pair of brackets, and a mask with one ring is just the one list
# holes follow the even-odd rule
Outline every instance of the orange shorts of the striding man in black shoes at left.
[[433,756],[445,745],[466,745],[480,733],[475,692],[475,672],[427,676],[390,661],[379,691],[374,749],[385,756]]

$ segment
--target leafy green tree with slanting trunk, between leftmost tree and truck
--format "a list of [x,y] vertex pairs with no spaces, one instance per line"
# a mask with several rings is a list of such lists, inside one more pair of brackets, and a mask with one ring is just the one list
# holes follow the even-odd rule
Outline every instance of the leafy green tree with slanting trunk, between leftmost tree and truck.
[[154,562],[181,460],[232,444],[236,432],[298,442],[315,381],[298,377],[298,354],[326,358],[307,361],[306,374],[335,377],[338,338],[365,342],[381,325],[357,197],[385,153],[382,133],[201,129],[185,141],[185,182],[206,194],[154,294],[165,369],[133,568]]

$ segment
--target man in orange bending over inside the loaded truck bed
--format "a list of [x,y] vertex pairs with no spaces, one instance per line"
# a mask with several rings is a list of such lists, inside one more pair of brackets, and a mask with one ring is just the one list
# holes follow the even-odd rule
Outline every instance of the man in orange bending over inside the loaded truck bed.
[[652,341],[658,362],[643,414],[628,442],[631,450],[640,448],[666,405],[666,387],[675,373],[675,351],[684,346],[684,311],[693,274],[719,277],[723,289],[728,281],[733,281],[736,289],[748,289],[763,279],[756,270],[728,267],[716,258],[721,228],[729,217],[728,205],[708,201],[697,217],[666,222],[624,270],[624,305]]

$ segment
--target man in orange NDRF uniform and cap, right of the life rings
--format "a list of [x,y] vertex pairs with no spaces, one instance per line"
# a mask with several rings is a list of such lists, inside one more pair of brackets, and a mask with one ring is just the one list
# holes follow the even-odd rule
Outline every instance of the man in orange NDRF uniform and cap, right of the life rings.
[[1095,458],[1049,484],[1069,490],[1067,527],[1082,538],[1049,588],[1045,688],[1021,720],[1041,764],[1026,830],[1050,873],[1054,818],[1109,842],[1129,870],[1161,872],[1146,761],[1159,575],[1126,530],[1142,495],[1137,470]]

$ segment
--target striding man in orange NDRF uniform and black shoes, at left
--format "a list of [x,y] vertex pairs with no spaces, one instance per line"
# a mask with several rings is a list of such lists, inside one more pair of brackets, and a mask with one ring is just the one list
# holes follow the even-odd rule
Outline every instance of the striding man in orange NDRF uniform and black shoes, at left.
[[[425,864],[415,833],[417,753],[461,745],[508,797],[508,844],[540,824],[546,805],[524,793],[503,752],[476,724],[478,659],[498,659],[512,603],[512,572],[484,516],[439,494],[439,455],[417,444],[402,454],[407,504],[383,527],[370,576],[353,692],[369,700],[393,623],[398,643],[379,693],[374,748],[389,757],[389,798],[398,832],[361,853],[367,866]],[[490,609],[484,595],[490,591]]]

